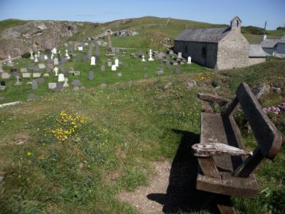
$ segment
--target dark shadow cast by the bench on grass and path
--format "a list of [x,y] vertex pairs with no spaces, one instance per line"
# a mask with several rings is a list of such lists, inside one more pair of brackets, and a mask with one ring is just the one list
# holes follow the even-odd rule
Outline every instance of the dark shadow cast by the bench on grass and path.
[[219,213],[217,205],[211,203],[213,195],[196,189],[198,163],[191,146],[199,143],[199,135],[187,131],[172,131],[181,134],[182,138],[172,161],[167,193],[150,193],[147,198],[163,205],[164,213],[201,210]]

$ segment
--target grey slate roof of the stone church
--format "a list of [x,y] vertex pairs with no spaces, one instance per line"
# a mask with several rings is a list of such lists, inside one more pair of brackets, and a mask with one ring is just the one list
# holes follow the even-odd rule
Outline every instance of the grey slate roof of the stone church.
[[229,34],[230,28],[212,28],[212,29],[186,29],[175,41],[199,41],[218,43],[224,36]]

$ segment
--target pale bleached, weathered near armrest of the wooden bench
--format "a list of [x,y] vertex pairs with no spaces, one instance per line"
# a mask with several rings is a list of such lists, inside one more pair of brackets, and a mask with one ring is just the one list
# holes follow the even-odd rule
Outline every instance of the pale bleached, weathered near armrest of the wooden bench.
[[224,143],[196,143],[192,146],[195,156],[198,157],[212,157],[220,156],[223,154],[232,156],[252,156],[251,152],[243,149],[228,146]]

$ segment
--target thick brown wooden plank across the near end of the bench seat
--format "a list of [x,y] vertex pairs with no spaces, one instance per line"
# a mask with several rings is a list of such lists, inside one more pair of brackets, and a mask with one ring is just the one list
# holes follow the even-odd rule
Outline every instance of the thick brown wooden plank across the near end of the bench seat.
[[231,173],[220,172],[222,179],[198,174],[197,189],[222,195],[254,198],[259,193],[254,176],[249,178],[233,177]]

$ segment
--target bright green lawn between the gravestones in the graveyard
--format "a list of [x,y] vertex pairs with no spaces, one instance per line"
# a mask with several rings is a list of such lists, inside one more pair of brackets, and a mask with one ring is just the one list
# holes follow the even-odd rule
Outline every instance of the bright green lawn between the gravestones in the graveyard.
[[[131,43],[131,41],[130,41]],[[61,48],[61,52],[65,53],[63,51],[64,49]],[[72,88],[72,81],[75,79],[78,79],[81,81],[81,85],[85,86],[86,88],[92,88],[94,86],[100,86],[102,83],[111,84],[111,83],[118,83],[123,81],[135,81],[139,79],[143,79],[143,76],[145,73],[148,74],[149,78],[157,77],[157,74],[155,71],[157,71],[159,68],[164,68],[165,73],[160,76],[169,76],[172,73],[175,73],[175,66],[171,66],[170,69],[166,68],[164,63],[160,63],[158,59],[155,61],[149,62],[142,62],[140,58],[133,59],[130,57],[130,53],[137,54],[138,51],[142,51],[145,53],[146,59],[146,49],[134,49],[134,50],[128,50],[127,54],[123,56],[123,54],[119,54],[120,62],[123,63],[123,65],[119,66],[116,72],[111,72],[110,67],[108,67],[108,58],[112,59],[113,63],[113,56],[107,57],[105,56],[105,48],[100,49],[100,61],[96,63],[96,66],[90,66],[90,61],[86,62],[78,62],[76,59],[76,56],[73,58],[73,62],[66,63],[66,70],[70,67],[73,67],[74,71],[80,71],[80,76],[68,76],[70,88]],[[86,51],[88,51],[88,46],[86,46]],[[78,56],[82,56],[82,54],[79,51],[75,52]],[[17,70],[20,72],[20,68],[28,67],[29,64],[33,63],[30,59],[22,58],[20,60],[17,60],[14,62],[14,68],[17,68]],[[38,63],[35,63],[36,66]],[[100,71],[100,66],[105,65],[105,72],[102,73]],[[11,73],[8,66],[3,66],[4,70]],[[59,66],[58,66],[59,68]],[[88,73],[89,71],[95,71],[95,77],[93,81],[88,80]],[[192,63],[191,66],[188,66],[187,64],[181,66],[181,73],[197,73],[200,71],[205,71],[205,68],[202,66],[199,66],[195,63]],[[41,71],[41,73],[45,73],[46,68]],[[121,78],[118,78],[118,73],[123,73],[123,76]],[[42,74],[43,76],[43,74]],[[0,101],[0,103],[8,103],[12,101],[25,101],[27,99],[27,96],[29,93],[34,93],[36,96],[43,96],[45,93],[53,93],[53,91],[48,90],[48,82],[57,82],[57,77],[54,75],[54,73],[50,74],[49,78],[45,77],[45,83],[38,84],[38,89],[36,91],[32,90],[31,85],[27,85],[31,79],[21,78],[21,81],[23,81],[22,86],[14,86],[14,83],[16,82],[16,78],[14,76],[11,76],[9,80],[6,81],[6,90],[1,91],[0,95],[4,96],[4,101]]]

